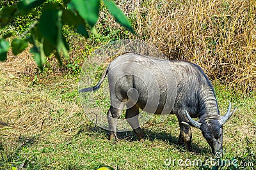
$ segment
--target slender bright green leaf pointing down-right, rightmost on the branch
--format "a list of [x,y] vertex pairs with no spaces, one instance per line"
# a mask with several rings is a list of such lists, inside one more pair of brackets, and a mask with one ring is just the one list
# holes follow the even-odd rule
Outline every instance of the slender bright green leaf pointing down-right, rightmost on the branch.
[[122,10],[120,10],[113,1],[104,0],[104,4],[107,6],[111,15],[113,15],[113,17],[115,17],[116,22],[120,23],[126,29],[128,29],[133,34],[135,34],[129,20],[127,19],[127,17],[125,17]]

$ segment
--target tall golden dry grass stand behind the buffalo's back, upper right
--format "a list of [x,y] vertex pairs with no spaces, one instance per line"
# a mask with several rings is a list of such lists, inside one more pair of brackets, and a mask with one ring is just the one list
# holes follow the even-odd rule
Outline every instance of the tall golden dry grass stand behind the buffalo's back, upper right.
[[256,87],[256,1],[126,1],[137,37],[170,59],[190,60],[214,81],[250,92]]

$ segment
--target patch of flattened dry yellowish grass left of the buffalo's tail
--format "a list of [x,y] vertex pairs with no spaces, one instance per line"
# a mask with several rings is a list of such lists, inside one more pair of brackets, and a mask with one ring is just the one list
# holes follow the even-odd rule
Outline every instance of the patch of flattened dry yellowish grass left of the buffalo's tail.
[[[63,79],[64,74],[60,72],[54,76],[52,72],[41,73],[33,80],[36,74],[38,68],[29,50],[19,56],[9,53],[8,60],[1,63],[0,145],[4,149],[2,157],[10,162],[15,161],[13,154],[24,146],[38,141],[60,143],[76,134],[84,121],[88,122],[80,114],[76,80]],[[79,124],[74,125],[73,121]],[[56,134],[58,138],[51,137]]]

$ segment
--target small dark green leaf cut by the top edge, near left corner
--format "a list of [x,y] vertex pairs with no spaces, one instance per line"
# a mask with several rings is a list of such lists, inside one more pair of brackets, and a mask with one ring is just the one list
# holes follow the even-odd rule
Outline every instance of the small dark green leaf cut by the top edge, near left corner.
[[26,15],[27,13],[29,13],[30,10],[32,10],[36,6],[40,6],[44,2],[45,0],[23,0],[19,1],[17,6],[20,10],[20,13],[22,13],[22,15]]

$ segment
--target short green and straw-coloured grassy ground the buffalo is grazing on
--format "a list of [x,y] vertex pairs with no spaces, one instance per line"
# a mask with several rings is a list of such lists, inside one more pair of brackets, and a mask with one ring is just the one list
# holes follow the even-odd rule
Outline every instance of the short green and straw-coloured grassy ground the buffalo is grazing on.
[[[10,53],[1,64],[1,169],[97,169],[103,165],[115,169],[199,169],[193,160],[204,164],[214,159],[198,129],[192,129],[192,152],[177,144],[179,125],[174,115],[164,122],[159,122],[159,117],[147,122],[143,127],[148,135],[145,141],[138,141],[133,132],[120,132],[120,141],[109,141],[108,131],[93,125],[80,106],[79,74],[33,73],[35,63],[29,56],[28,52],[18,57]],[[237,94],[218,82],[214,85],[221,114],[227,111],[228,101],[238,108],[224,125],[223,159],[253,162],[255,168],[255,96]],[[184,162],[179,166],[177,161],[166,166],[169,160],[179,159],[190,159],[191,166]]]

